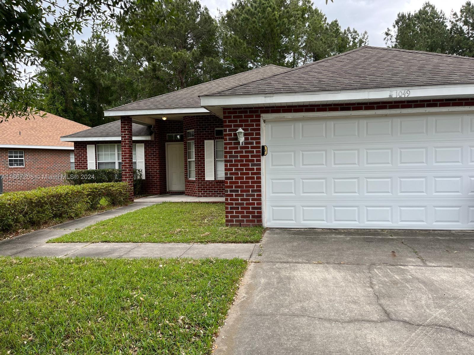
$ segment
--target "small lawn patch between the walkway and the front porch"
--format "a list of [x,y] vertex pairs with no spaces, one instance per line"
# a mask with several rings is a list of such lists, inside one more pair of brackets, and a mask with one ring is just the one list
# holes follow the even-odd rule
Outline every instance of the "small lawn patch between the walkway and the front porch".
[[263,227],[226,227],[224,204],[168,202],[101,221],[49,242],[255,243]]

